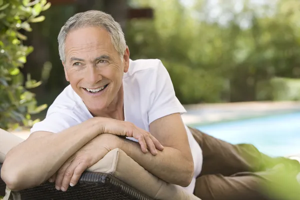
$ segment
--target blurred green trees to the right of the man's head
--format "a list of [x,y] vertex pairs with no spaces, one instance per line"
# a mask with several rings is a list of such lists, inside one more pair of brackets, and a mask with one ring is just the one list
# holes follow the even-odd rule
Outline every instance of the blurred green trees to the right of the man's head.
[[261,81],[300,78],[300,1],[265,2],[131,0],[155,16],[128,22],[130,56],[162,59],[182,103],[258,100]]

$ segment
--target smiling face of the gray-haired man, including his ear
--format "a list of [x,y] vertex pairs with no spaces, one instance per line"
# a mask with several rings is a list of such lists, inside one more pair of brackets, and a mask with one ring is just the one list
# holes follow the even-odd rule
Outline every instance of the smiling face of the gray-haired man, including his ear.
[[98,113],[117,99],[123,73],[129,66],[111,43],[109,33],[99,27],[72,30],[65,39],[65,78],[91,113]]

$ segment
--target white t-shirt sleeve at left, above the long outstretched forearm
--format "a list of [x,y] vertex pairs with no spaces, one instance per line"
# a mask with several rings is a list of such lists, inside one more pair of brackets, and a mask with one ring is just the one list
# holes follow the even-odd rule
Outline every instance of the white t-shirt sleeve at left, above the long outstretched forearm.
[[49,107],[49,109],[46,117],[32,126],[30,133],[35,131],[57,133],[80,123],[73,110],[59,109],[58,107]]

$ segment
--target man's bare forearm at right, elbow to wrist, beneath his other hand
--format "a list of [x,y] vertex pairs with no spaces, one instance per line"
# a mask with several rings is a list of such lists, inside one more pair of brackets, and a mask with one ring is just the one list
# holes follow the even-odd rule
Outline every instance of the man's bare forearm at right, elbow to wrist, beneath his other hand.
[[160,179],[181,186],[189,185],[193,175],[193,160],[178,149],[165,146],[154,156],[150,152],[143,153],[137,142],[128,139],[123,139],[120,149]]

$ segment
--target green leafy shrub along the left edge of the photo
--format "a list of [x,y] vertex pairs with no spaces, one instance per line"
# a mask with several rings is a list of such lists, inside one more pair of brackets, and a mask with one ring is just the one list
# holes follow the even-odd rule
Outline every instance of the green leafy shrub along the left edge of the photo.
[[32,46],[23,45],[24,31],[31,31],[29,23],[39,22],[44,16],[41,11],[50,7],[46,0],[0,0],[0,127],[14,129],[20,123],[31,126],[35,114],[46,108],[36,106],[34,93],[28,89],[37,87],[40,82],[20,73],[26,56]]

